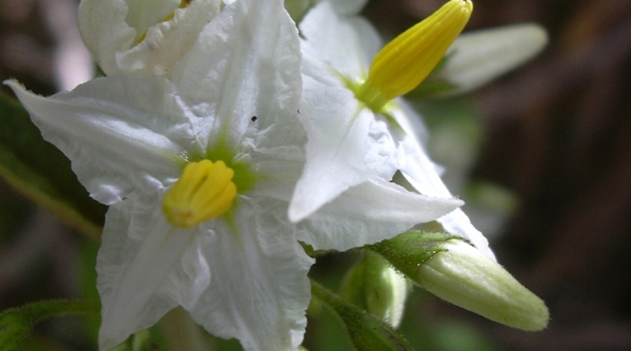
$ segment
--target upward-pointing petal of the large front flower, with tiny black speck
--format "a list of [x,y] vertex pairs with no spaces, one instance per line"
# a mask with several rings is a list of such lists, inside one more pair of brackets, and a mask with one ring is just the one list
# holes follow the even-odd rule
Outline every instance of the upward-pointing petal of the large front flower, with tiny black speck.
[[[200,139],[219,140],[236,153],[266,143],[304,143],[297,121],[300,49],[297,29],[279,0],[241,0],[227,5],[178,62],[174,82],[206,120]],[[212,97],[210,99],[209,97]],[[271,140],[270,128],[289,124],[295,132]]]

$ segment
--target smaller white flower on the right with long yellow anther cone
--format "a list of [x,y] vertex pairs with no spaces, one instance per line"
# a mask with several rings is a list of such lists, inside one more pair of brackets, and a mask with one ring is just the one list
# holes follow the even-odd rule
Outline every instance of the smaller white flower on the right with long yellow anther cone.
[[[399,49],[405,45],[420,47],[407,53],[389,47],[380,51],[379,35],[370,23],[358,16],[338,14],[329,2],[316,5],[306,14],[299,26],[305,38],[302,41],[300,116],[308,142],[305,172],[289,208],[290,219],[306,218],[356,184],[390,180],[397,170],[419,193],[452,196],[440,178],[438,166],[427,157],[418,137],[419,130],[423,130],[420,117],[402,99],[391,99],[409,91],[430,73],[462,31],[471,13],[467,7],[470,5],[468,1],[453,0],[430,17],[428,21],[434,23],[445,17],[453,20],[445,20],[447,24],[441,24],[442,27],[425,26],[425,38],[435,39],[425,40],[428,46],[424,47],[424,38],[408,39],[407,43],[400,44],[405,39],[403,36],[389,44],[390,47],[399,45]],[[371,64],[378,52],[379,64]],[[419,59],[431,62],[409,64]],[[375,69],[378,72],[374,74],[372,69],[379,65],[379,71]],[[389,74],[390,71],[393,73]],[[416,77],[408,78],[410,75]],[[367,84],[367,79],[374,85]],[[383,90],[385,85],[392,90]],[[322,149],[328,152],[323,154]],[[365,156],[356,157],[361,150]],[[324,184],[326,192],[314,196],[314,189],[321,189]],[[471,225],[462,210],[457,209],[438,221],[445,230],[470,240],[494,258],[487,239]]]

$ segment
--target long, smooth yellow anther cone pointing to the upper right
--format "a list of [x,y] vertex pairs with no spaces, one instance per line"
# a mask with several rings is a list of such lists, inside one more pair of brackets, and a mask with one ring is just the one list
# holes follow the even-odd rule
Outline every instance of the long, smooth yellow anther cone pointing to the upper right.
[[470,0],[451,0],[389,42],[373,58],[368,79],[356,92],[373,111],[419,85],[469,21]]

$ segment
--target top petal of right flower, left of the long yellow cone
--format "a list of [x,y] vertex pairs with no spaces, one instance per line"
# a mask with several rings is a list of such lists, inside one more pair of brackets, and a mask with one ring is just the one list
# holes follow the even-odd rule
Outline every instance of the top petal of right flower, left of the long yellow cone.
[[346,78],[368,76],[372,57],[381,48],[379,34],[361,17],[344,18],[329,2],[316,5],[300,23],[305,55],[319,58]]

